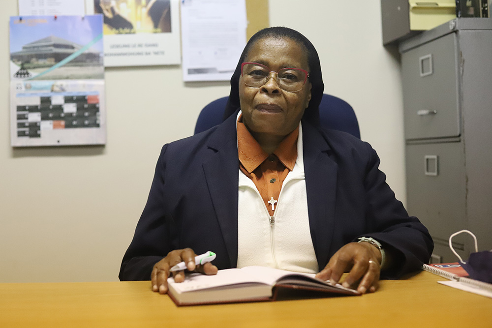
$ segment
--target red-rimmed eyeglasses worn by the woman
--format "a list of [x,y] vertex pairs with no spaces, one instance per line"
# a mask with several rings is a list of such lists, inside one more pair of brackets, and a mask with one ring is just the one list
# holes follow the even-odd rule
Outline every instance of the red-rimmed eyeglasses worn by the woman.
[[309,77],[307,71],[301,68],[286,67],[276,72],[257,62],[243,62],[241,64],[241,76],[248,87],[260,88],[264,86],[270,79],[271,73],[277,74],[278,86],[289,92],[303,89]]

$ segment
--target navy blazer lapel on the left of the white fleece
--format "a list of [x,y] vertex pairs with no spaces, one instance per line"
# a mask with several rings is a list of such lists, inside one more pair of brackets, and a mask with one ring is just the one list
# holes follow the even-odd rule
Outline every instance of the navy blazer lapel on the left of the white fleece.
[[232,268],[238,261],[239,159],[235,118],[231,115],[214,131],[208,145],[213,153],[202,165]]

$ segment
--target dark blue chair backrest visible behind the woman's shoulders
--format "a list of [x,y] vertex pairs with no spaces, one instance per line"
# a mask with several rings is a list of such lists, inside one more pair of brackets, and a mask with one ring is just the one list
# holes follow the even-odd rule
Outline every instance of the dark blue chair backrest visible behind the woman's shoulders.
[[[196,120],[195,134],[222,123],[228,98],[222,97],[214,100],[202,109]],[[354,109],[345,100],[326,93],[323,94],[319,104],[319,120],[324,128],[344,131],[359,139],[361,138]]]

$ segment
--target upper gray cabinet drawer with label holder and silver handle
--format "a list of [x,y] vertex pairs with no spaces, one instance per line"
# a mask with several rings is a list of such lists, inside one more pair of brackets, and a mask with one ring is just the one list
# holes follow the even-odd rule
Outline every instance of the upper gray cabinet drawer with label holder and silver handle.
[[460,135],[456,34],[401,55],[406,139]]

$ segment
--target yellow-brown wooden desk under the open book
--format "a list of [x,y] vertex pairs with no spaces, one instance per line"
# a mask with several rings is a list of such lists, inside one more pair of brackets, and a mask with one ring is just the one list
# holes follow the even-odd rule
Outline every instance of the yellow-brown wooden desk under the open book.
[[361,297],[177,307],[149,281],[0,284],[0,327],[492,327],[492,299],[420,272]]

